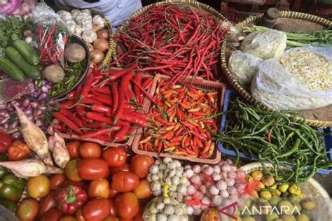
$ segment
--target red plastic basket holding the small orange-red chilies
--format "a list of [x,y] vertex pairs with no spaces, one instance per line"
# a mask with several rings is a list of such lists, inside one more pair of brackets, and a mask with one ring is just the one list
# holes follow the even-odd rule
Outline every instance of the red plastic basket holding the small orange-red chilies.
[[[151,97],[153,97],[153,95],[155,94],[155,90],[158,85],[158,80],[160,78],[170,79],[169,76],[160,75],[160,74],[156,75],[155,78],[153,79],[153,85],[149,92],[149,95]],[[223,98],[224,98],[224,95],[226,92],[226,85],[224,85],[223,83],[219,83],[217,81],[203,80],[202,78],[193,78],[193,77],[188,77],[184,80],[180,80],[179,83],[194,85],[195,87],[198,87],[202,90],[217,90],[220,93],[219,106],[222,108]],[[146,102],[146,104],[144,104],[144,107],[145,108],[148,107],[146,110],[149,110],[151,108],[151,101],[146,99],[144,102]],[[171,154],[167,154],[167,153],[158,154],[158,152],[149,152],[149,151],[139,150],[138,147],[139,147],[139,141],[141,141],[142,131],[143,131],[142,128],[137,129],[137,136],[134,137],[134,142],[132,143],[132,151],[139,155],[148,155],[148,156],[153,156],[153,157],[170,157],[170,158],[174,158],[174,159],[188,160],[191,162],[198,162],[198,163],[202,163],[202,164],[216,164],[221,159],[221,152],[219,152],[218,148],[214,149],[214,155],[212,155],[212,157],[210,157],[209,159],[171,155]]]

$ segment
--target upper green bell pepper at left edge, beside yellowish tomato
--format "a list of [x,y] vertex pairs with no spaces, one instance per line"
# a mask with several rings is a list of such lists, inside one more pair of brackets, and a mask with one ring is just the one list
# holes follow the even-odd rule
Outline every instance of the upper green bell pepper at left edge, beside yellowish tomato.
[[17,202],[25,189],[25,180],[7,174],[0,180],[0,199]]

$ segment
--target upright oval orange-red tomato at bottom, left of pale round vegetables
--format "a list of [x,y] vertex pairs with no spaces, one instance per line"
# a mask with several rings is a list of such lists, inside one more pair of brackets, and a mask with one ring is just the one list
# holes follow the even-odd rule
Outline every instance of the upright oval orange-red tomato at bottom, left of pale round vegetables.
[[116,211],[122,218],[131,219],[139,212],[139,201],[132,192],[121,194],[114,202]]

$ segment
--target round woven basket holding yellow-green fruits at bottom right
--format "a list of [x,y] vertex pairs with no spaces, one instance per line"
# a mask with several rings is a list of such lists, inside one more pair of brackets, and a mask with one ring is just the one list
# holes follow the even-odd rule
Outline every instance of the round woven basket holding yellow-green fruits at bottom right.
[[[273,166],[270,163],[265,163],[268,169],[272,169]],[[284,169],[289,169],[284,167]],[[241,170],[245,173],[251,173],[252,171],[263,171],[263,166],[260,162],[254,162],[246,164],[241,167]],[[332,220],[332,201],[324,187],[322,187],[313,178],[307,180],[305,183],[300,184],[300,188],[305,194],[306,199],[317,201],[318,207],[313,212],[315,220]]]

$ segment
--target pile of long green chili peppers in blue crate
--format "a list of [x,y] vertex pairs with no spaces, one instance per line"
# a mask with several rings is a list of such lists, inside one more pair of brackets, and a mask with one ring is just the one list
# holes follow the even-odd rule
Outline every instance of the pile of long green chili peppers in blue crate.
[[[248,106],[235,99],[227,111],[226,127],[216,134],[225,148],[235,150],[258,161],[270,162],[271,176],[281,176],[283,183],[303,183],[314,176],[317,169],[332,166],[316,129],[291,119],[287,113],[276,113]],[[237,157],[238,159],[239,157]],[[284,171],[280,163],[291,164],[294,169]],[[272,174],[274,173],[274,174]]]

